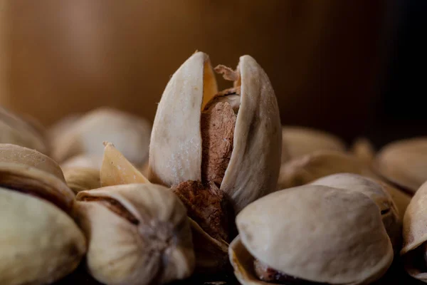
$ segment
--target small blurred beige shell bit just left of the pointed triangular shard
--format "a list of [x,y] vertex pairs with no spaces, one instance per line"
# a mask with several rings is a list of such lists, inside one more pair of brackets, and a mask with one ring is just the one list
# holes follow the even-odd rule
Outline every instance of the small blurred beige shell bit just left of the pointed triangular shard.
[[64,168],[65,182],[75,194],[101,187],[100,171],[89,167]]

